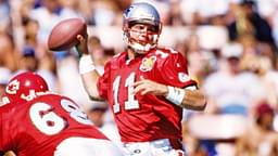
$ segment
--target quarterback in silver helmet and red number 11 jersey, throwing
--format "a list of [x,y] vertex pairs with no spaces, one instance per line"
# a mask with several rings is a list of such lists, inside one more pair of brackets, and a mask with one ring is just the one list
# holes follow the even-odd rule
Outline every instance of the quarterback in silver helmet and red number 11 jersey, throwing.
[[127,50],[106,63],[102,76],[87,55],[87,38],[77,36],[85,88],[91,99],[109,102],[128,156],[182,155],[182,107],[202,110],[206,104],[185,57],[156,48],[161,30],[154,6],[131,4],[124,12]]

